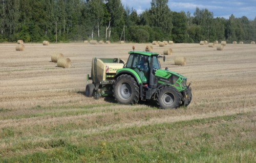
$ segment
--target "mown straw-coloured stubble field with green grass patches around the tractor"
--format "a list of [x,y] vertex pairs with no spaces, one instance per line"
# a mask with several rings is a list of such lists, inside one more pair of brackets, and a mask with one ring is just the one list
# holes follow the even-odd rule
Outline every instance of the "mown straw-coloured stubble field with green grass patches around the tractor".
[[[117,104],[84,96],[97,58],[127,60],[150,44],[0,44],[0,162],[254,162],[256,160],[256,46],[222,51],[173,44],[162,68],[188,78],[186,108],[154,102]],[[60,52],[71,68],[52,63]],[[174,65],[185,57],[186,66]]]

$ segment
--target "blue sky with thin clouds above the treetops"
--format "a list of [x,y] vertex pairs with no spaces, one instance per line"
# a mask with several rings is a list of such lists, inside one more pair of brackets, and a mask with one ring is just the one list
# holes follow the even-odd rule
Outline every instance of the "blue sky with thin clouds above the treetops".
[[[124,8],[129,7],[135,9],[140,14],[145,9],[151,8],[152,0],[121,0]],[[256,17],[256,0],[169,0],[168,7],[171,11],[189,11],[193,16],[196,8],[200,10],[208,9],[214,13],[214,17],[229,18],[231,14],[239,18],[246,16],[249,20],[254,20]]]

